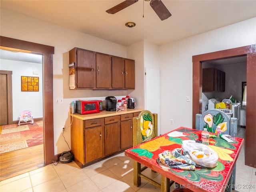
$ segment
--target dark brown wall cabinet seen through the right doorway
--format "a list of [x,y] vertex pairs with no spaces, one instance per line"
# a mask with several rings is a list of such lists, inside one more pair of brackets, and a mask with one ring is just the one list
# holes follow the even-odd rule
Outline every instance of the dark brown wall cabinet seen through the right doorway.
[[225,72],[216,68],[204,68],[202,92],[225,92]]

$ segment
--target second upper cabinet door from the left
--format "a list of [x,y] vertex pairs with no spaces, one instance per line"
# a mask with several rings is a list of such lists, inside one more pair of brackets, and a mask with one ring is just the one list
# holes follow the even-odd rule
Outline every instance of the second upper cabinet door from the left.
[[109,55],[96,53],[96,88],[111,87],[111,60]]

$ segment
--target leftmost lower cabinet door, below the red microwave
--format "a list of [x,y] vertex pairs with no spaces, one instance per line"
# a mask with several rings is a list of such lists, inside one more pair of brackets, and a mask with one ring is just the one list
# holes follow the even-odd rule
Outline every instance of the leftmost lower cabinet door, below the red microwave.
[[85,163],[103,157],[103,144],[103,126],[96,126],[85,129]]

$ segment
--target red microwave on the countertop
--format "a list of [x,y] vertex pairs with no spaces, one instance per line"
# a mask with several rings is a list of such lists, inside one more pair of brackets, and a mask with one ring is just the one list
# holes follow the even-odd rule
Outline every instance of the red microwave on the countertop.
[[76,112],[81,115],[102,112],[102,100],[78,100]]

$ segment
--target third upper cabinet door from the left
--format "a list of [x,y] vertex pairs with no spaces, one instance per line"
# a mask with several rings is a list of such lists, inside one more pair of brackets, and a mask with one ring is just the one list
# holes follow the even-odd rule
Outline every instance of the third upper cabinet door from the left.
[[112,88],[124,88],[124,58],[112,57]]

